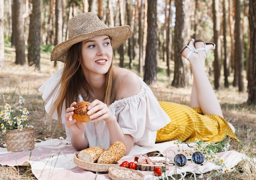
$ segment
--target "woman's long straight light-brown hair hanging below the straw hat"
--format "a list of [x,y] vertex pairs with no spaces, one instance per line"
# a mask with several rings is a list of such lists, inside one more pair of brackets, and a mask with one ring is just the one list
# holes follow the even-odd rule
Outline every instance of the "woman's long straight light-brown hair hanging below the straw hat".
[[[54,94],[56,100],[52,104],[50,110],[50,117],[52,118],[53,113],[57,110],[58,122],[61,123],[61,113],[63,109],[63,103],[65,102],[65,109],[70,107],[70,104],[78,100],[79,92],[81,88],[84,88],[87,98],[90,98],[90,93],[86,89],[85,78],[81,69],[81,51],[82,42],[74,44],[67,52],[67,58],[63,67],[63,73],[59,82],[59,91]],[[113,61],[106,73],[105,82],[105,96],[103,102],[108,106],[115,100],[115,78],[112,69]],[[81,79],[82,78],[82,79]]]

